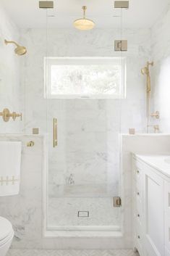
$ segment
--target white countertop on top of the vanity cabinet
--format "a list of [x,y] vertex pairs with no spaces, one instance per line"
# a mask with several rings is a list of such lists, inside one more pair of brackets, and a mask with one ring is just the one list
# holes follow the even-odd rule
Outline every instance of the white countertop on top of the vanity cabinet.
[[146,164],[155,168],[159,172],[163,173],[165,176],[170,178],[170,154],[134,154],[135,159],[142,160]]

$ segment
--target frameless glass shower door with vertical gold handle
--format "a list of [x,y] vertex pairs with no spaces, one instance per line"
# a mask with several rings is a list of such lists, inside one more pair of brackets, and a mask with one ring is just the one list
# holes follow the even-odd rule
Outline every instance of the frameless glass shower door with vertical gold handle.
[[[121,24],[122,12],[118,13],[116,22]],[[122,39],[122,28],[119,25],[113,37],[105,38],[112,40],[105,44],[103,30],[59,30],[53,19],[47,12],[46,230],[119,231],[126,61],[122,51],[114,51],[114,39]]]

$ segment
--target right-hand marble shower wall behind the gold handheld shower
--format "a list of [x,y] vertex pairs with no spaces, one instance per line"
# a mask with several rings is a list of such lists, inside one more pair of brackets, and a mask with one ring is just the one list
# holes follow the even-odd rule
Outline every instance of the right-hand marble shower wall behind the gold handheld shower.
[[[151,30],[153,67],[153,111],[160,111],[160,125],[162,133],[170,131],[170,7],[156,22]],[[156,122],[155,122],[156,123]]]

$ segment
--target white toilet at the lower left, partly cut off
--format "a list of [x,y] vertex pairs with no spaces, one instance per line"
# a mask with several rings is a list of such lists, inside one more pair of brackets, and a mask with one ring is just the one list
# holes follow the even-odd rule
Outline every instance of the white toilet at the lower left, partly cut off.
[[14,231],[9,220],[0,217],[0,255],[5,256],[12,244]]

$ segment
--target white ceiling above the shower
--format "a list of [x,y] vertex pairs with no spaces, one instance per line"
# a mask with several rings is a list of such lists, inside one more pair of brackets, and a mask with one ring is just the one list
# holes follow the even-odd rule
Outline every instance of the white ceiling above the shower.
[[[38,0],[0,0],[20,28],[72,28],[82,6],[96,28],[150,28],[169,7],[170,0],[129,0],[129,9],[114,9],[114,0],[54,0],[54,9],[39,9]],[[122,12],[122,19],[121,19]],[[46,16],[48,15],[48,19]]]

